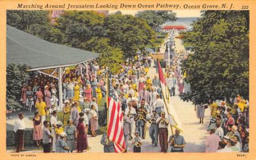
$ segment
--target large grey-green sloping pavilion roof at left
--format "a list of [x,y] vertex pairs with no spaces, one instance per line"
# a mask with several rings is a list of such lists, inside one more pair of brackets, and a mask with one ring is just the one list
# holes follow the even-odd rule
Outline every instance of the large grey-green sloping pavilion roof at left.
[[26,64],[31,70],[68,67],[93,60],[98,53],[54,44],[6,26],[7,64]]

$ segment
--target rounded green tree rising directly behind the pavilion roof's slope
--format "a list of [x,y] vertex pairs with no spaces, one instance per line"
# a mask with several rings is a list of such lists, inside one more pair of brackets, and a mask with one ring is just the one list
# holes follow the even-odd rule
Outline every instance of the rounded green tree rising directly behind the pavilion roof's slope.
[[104,20],[105,15],[93,11],[67,11],[54,27],[65,35],[61,43],[81,48],[93,36],[104,36]]

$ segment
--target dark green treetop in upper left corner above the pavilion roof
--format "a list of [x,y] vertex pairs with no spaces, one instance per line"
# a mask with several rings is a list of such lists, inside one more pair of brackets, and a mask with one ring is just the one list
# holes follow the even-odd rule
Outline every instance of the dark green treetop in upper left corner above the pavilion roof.
[[7,24],[22,31],[26,31],[33,24],[45,25],[49,23],[48,11],[40,10],[8,10],[6,12]]

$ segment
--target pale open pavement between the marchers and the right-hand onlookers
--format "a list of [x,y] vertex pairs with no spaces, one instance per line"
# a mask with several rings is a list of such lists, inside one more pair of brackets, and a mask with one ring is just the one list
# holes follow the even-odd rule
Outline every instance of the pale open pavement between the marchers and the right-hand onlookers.
[[[150,68],[148,76],[151,78],[156,75],[156,68]],[[175,93],[179,93],[176,87]],[[182,135],[186,140],[185,152],[204,152],[204,141],[207,136],[207,125],[209,124],[209,109],[205,109],[205,120],[204,124],[199,123],[199,119],[196,117],[195,106],[192,102],[184,102],[180,100],[179,96],[176,95],[171,97],[170,102],[175,109],[179,121],[182,126]],[[169,129],[170,130],[170,129]],[[169,135],[170,135],[169,131]],[[169,148],[170,149],[170,148]]]

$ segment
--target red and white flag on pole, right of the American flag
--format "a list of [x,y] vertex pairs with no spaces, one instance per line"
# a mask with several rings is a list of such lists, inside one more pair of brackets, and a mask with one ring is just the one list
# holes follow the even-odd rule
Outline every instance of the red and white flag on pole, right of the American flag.
[[162,67],[158,60],[157,60],[157,65],[158,65],[158,73],[159,73],[161,90],[162,90],[163,99],[164,99],[164,112],[167,113],[167,114],[165,114],[166,118],[168,118],[170,125],[172,125],[172,127],[175,127],[176,129],[179,129],[180,131],[182,131],[182,129],[181,129],[182,127],[180,126],[180,122],[179,122],[177,113],[175,112],[174,108],[172,107],[172,103],[168,102],[168,99],[170,99],[170,94],[169,94],[168,87],[166,85]]

